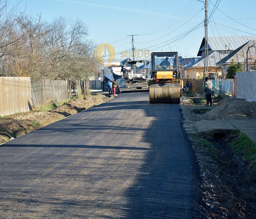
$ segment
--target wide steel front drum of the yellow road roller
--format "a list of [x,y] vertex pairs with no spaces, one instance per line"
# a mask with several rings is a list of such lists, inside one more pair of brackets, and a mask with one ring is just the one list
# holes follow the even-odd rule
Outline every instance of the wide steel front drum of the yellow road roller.
[[180,103],[180,84],[160,83],[149,86],[150,103]]

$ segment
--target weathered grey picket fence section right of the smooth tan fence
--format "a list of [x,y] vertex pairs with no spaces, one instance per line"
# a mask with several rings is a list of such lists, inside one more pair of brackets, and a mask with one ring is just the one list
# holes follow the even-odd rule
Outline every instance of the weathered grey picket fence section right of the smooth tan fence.
[[31,82],[31,96],[34,107],[48,102],[59,103],[69,99],[68,81],[41,80]]

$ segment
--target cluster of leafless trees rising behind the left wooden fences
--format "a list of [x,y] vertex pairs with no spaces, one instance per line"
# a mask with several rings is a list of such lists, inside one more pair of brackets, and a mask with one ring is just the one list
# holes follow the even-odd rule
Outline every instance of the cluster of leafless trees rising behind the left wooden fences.
[[79,19],[59,17],[44,22],[41,15],[17,14],[0,0],[0,59],[2,76],[30,76],[33,80],[88,79],[98,70],[95,43]]

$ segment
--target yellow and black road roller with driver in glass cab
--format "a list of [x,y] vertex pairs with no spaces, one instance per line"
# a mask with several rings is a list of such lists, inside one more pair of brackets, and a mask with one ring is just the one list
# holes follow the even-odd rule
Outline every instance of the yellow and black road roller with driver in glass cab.
[[150,103],[180,103],[182,80],[178,74],[178,53],[151,53]]

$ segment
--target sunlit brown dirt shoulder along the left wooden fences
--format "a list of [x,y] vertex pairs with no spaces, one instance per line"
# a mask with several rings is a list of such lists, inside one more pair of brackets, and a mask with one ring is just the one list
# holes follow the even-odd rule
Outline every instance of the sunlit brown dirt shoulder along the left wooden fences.
[[83,99],[70,100],[49,111],[29,111],[0,118],[0,145],[67,116],[87,110],[114,98],[95,93]]

